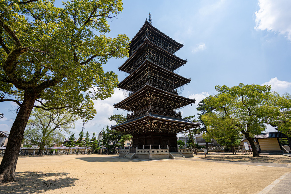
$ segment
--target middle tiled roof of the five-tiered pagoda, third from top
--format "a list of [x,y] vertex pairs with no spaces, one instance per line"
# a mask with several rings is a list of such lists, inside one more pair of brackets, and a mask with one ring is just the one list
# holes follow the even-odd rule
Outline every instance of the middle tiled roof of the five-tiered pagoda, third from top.
[[189,83],[191,81],[191,78],[183,77],[183,76],[181,76],[181,75],[179,75],[177,73],[174,73],[174,72],[168,70],[167,68],[164,68],[163,66],[160,66],[160,65],[158,65],[158,64],[156,64],[156,63],[154,63],[154,62],[152,62],[152,61],[150,61],[148,59],[146,59],[141,66],[139,66],[136,70],[134,70],[134,72],[132,72],[123,81],[121,81],[118,84],[117,87],[119,88],[120,86],[122,86],[126,82],[129,82],[129,80],[133,79],[136,75],[138,75],[138,73],[140,73],[140,71],[143,68],[145,68],[145,66],[147,66],[147,65],[155,67],[155,68],[158,68],[161,72],[167,73],[168,75],[172,75],[173,78],[175,78],[175,79],[177,79],[177,80],[179,80],[181,82],[184,82],[184,84]]

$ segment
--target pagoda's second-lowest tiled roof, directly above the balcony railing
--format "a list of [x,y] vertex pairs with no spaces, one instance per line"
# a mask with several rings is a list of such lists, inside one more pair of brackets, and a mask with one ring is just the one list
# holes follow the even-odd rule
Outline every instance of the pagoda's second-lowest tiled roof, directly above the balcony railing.
[[[170,96],[173,96],[173,97],[175,97],[175,98],[179,98],[179,99],[181,99],[181,100],[184,100],[184,101],[188,102],[188,104],[192,104],[192,103],[194,104],[195,101],[196,101],[195,98],[194,98],[194,99],[186,98],[186,97],[184,97],[184,96],[180,96],[180,95],[177,95],[177,94],[173,94],[173,93],[171,93],[171,92],[166,92],[166,91],[163,91],[163,90],[161,90],[161,89],[159,89],[159,88],[157,88],[157,87],[151,86],[151,85],[149,85],[149,84],[147,83],[144,87],[142,87],[142,88],[139,89],[138,91],[132,93],[130,96],[128,96],[128,97],[125,98],[124,100],[120,101],[119,103],[113,103],[113,106],[114,106],[115,108],[121,108],[120,105],[122,105],[123,103],[126,103],[127,101],[132,100],[132,99],[134,98],[134,96],[138,95],[140,92],[142,92],[142,91],[143,91],[144,89],[146,89],[147,87],[148,87],[148,88],[152,88],[152,89],[154,89],[155,91],[160,92],[161,94],[168,95],[169,97],[170,97]],[[181,107],[177,107],[177,108],[181,108]],[[121,109],[122,109],[122,108],[121,108]]]

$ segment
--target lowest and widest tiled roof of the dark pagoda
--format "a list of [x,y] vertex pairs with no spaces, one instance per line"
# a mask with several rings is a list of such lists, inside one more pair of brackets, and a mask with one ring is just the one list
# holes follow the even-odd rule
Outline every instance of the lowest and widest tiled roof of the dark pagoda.
[[114,126],[111,126],[111,128],[114,130],[114,128],[119,128],[121,126],[125,126],[125,125],[128,125],[128,124],[132,124],[132,123],[138,123],[139,121],[141,120],[147,120],[147,119],[157,119],[157,120],[163,120],[163,121],[169,121],[169,122],[174,122],[174,123],[181,123],[181,124],[187,124],[187,125],[190,125],[190,126],[193,126],[193,127],[198,127],[200,126],[200,123],[199,122],[193,122],[193,121],[188,121],[188,120],[185,120],[185,119],[182,119],[182,118],[176,118],[176,117],[167,117],[167,116],[164,116],[164,115],[159,115],[159,114],[153,114],[153,113],[148,113],[148,114],[145,114],[145,115],[142,115],[141,117],[136,117],[134,119],[130,119],[128,121],[125,121],[123,123],[120,123],[118,125],[114,125]]

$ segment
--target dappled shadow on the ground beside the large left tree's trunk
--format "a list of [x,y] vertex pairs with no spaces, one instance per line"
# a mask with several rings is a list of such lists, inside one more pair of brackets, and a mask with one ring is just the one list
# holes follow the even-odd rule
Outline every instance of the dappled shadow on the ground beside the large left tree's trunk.
[[44,193],[45,191],[74,186],[75,181],[79,179],[64,177],[68,174],[70,173],[16,172],[18,181],[2,184],[0,193]]

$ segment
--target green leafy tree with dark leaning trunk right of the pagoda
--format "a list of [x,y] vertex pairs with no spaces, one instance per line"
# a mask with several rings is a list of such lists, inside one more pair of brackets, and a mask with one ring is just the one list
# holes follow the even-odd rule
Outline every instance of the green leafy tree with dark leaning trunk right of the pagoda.
[[[225,127],[229,128],[232,123],[251,144],[253,156],[259,157],[252,137],[264,131],[269,120],[278,118],[286,108],[285,103],[280,103],[284,99],[276,92],[271,92],[270,86],[241,83],[232,88],[223,85],[216,86],[215,89],[217,95],[204,99],[206,110],[212,112],[204,114],[201,119],[205,122],[210,114],[215,114],[216,119],[212,121],[216,120],[217,123],[212,125],[227,124]],[[226,119],[228,122],[219,119]]]

